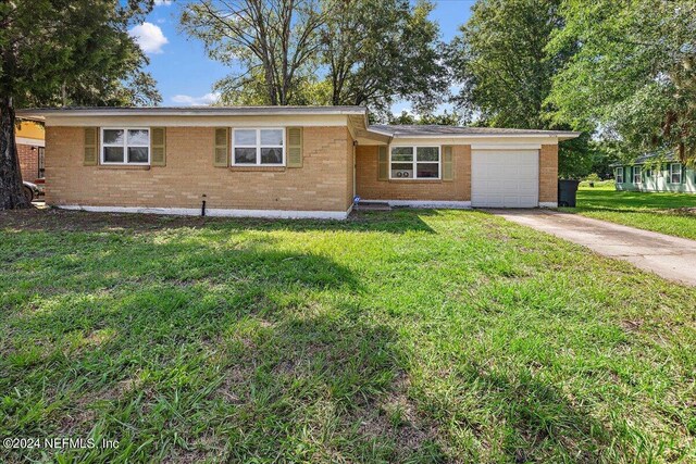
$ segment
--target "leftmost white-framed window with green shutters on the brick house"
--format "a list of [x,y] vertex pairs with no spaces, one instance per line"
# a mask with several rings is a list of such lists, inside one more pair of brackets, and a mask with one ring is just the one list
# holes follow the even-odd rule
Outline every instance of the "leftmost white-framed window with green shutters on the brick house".
[[102,128],[102,164],[150,164],[150,129]]

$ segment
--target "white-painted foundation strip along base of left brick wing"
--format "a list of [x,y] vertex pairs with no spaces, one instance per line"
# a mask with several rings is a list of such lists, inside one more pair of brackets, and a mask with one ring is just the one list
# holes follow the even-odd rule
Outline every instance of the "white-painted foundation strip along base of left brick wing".
[[[164,214],[175,216],[200,216],[200,208],[150,208],[150,206],[89,206],[82,204],[57,204],[55,208],[92,213],[139,213]],[[207,208],[206,215],[211,217],[259,217],[268,220],[337,220],[348,217],[347,211],[286,211],[286,210],[232,210]]]

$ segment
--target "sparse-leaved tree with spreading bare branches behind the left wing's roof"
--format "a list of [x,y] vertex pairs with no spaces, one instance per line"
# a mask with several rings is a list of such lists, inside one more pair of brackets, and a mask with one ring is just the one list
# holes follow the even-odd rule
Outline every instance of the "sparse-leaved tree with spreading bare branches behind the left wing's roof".
[[319,0],[203,0],[187,5],[181,17],[182,28],[202,40],[212,59],[240,64],[241,72],[217,88],[251,91],[272,105],[294,101],[316,60],[324,24]]

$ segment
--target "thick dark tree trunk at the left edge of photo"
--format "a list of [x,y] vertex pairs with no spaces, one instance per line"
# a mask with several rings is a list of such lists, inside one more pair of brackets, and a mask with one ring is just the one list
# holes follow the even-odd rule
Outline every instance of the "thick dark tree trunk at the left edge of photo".
[[0,98],[0,210],[28,208],[24,196],[20,158],[14,139],[14,108],[10,97]]

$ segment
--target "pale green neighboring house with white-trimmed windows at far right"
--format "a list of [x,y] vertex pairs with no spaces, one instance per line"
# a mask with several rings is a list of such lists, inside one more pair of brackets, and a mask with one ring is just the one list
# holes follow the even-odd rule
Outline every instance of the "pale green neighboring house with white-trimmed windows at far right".
[[696,171],[674,154],[645,154],[631,164],[612,167],[617,190],[696,193]]

